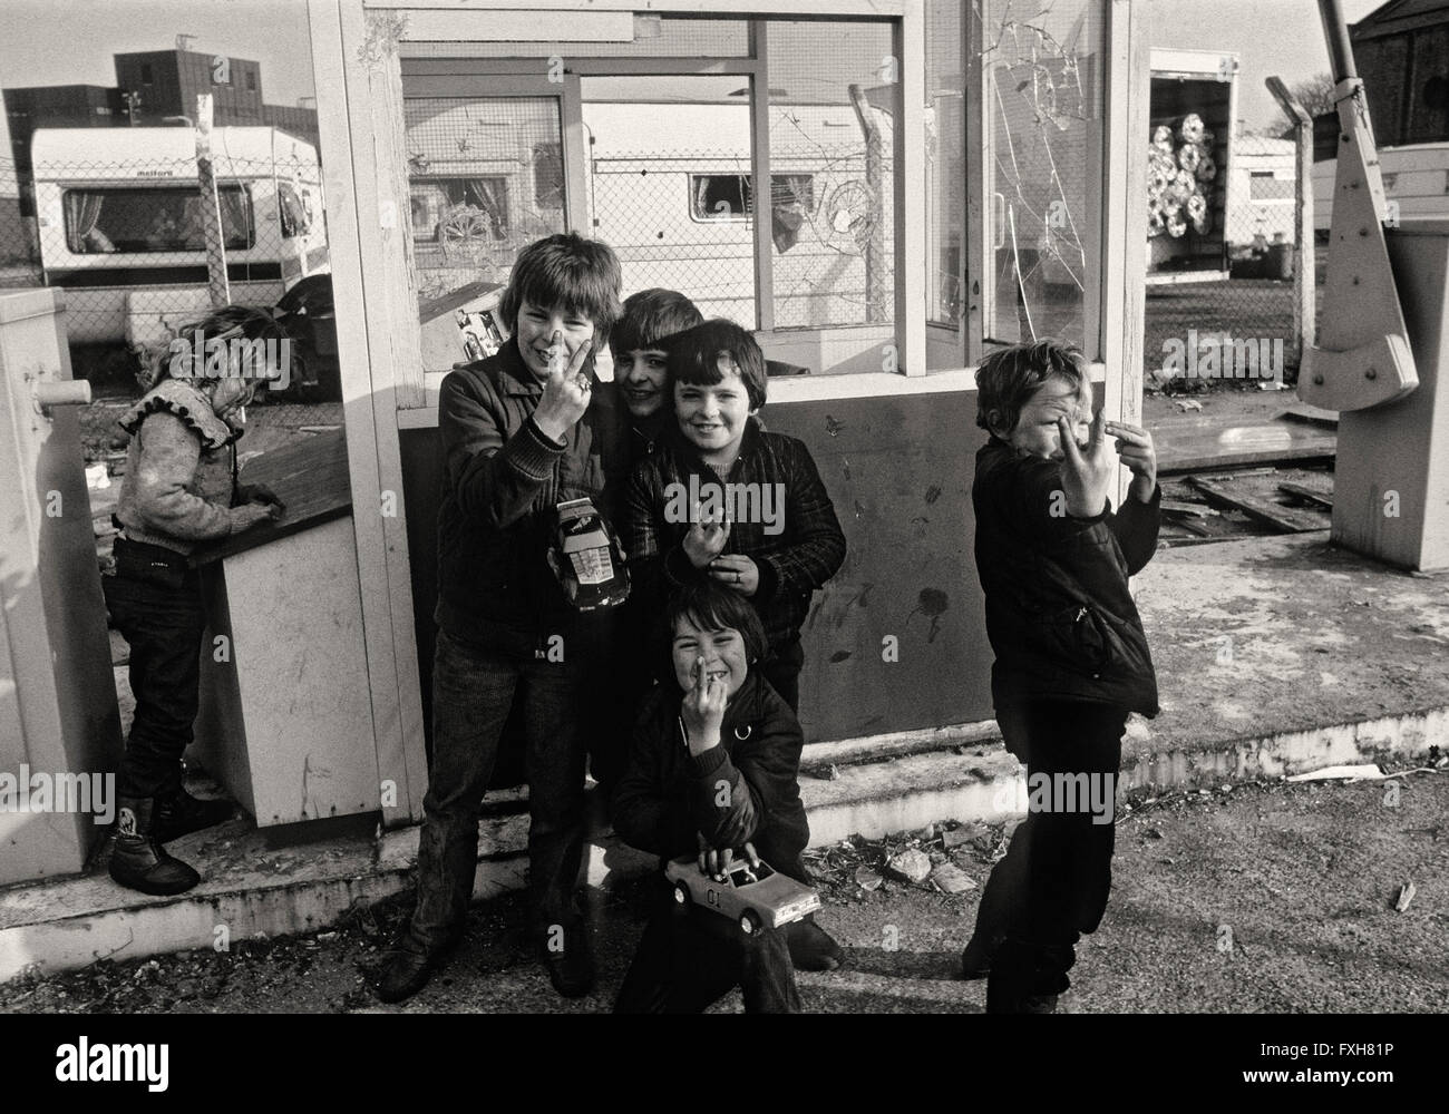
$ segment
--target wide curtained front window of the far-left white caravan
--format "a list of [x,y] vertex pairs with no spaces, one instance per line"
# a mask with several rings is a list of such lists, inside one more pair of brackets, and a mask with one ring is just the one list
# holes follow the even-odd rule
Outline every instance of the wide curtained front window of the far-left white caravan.
[[[222,185],[217,194],[226,246],[255,245],[251,191]],[[194,185],[67,190],[64,206],[65,243],[74,255],[206,251],[201,193]]]

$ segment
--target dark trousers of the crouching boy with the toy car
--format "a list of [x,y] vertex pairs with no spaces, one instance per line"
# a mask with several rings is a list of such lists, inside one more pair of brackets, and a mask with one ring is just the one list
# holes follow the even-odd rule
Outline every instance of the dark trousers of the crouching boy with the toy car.
[[745,1013],[800,1013],[784,931],[758,929],[745,936],[733,920],[710,910],[678,913],[662,879],[659,889],[619,988],[616,1014],[697,1014],[735,987],[745,994]]

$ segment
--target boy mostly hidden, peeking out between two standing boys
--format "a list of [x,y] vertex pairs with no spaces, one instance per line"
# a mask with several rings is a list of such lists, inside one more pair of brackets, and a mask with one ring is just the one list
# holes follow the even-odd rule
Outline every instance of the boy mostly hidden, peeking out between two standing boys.
[[[677,290],[640,290],[625,298],[623,316],[609,335],[609,346],[614,356],[613,391],[622,401],[617,410],[626,416],[629,427],[630,468],[653,452],[674,416],[664,342],[703,320],[694,303]],[[607,666],[596,678],[593,704],[600,714],[598,729],[590,733],[588,762],[604,801],[623,774],[639,701],[653,684],[653,671],[643,661],[648,627],[658,614],[651,603],[656,601],[630,592],[616,617],[617,652],[609,655]]]

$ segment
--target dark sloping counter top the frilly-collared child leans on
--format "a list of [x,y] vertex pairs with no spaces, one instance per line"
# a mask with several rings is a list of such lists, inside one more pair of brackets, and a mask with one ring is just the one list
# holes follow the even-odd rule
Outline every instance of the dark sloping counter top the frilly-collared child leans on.
[[[352,510],[352,481],[348,475],[345,433],[332,430],[298,440],[246,462],[243,484],[265,484],[287,507],[280,522],[262,523],[246,533],[197,549],[193,564],[213,561],[258,549],[264,545],[341,519]],[[351,574],[352,569],[343,569]]]

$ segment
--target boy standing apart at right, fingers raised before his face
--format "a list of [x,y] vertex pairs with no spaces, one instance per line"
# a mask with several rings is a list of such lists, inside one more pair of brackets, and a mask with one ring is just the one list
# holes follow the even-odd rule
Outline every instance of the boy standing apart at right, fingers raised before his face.
[[[977,391],[977,424],[991,436],[971,498],[997,723],[1029,787],[1074,791],[1033,792],[981,895],[962,975],[990,973],[990,1013],[1051,1013],[1071,982],[1078,934],[1107,907],[1127,713],[1158,713],[1127,578],[1156,548],[1162,493],[1152,436],[1101,411],[1090,417],[1075,348],[1040,340],[993,352]],[[1114,514],[1119,459],[1132,485]]]

